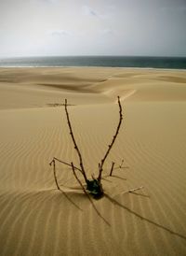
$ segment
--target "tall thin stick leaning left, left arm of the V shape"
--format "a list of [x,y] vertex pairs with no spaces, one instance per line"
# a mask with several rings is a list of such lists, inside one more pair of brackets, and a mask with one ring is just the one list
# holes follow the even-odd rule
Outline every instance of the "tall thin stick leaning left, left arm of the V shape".
[[82,155],[81,155],[81,152],[80,152],[79,148],[77,147],[77,144],[76,144],[76,141],[75,141],[75,138],[74,138],[74,135],[73,135],[73,129],[72,129],[71,121],[70,121],[70,118],[69,118],[69,113],[68,113],[68,110],[67,110],[67,99],[65,99],[64,108],[65,108],[65,112],[66,112],[67,123],[68,123],[69,130],[70,130],[70,135],[73,139],[74,149],[76,149],[76,151],[77,151],[77,154],[78,154],[78,157],[79,157],[79,164],[80,164],[80,167],[81,167],[81,170],[82,170],[82,174],[83,174],[85,180],[87,181],[86,171],[85,171],[85,168],[84,168]]

